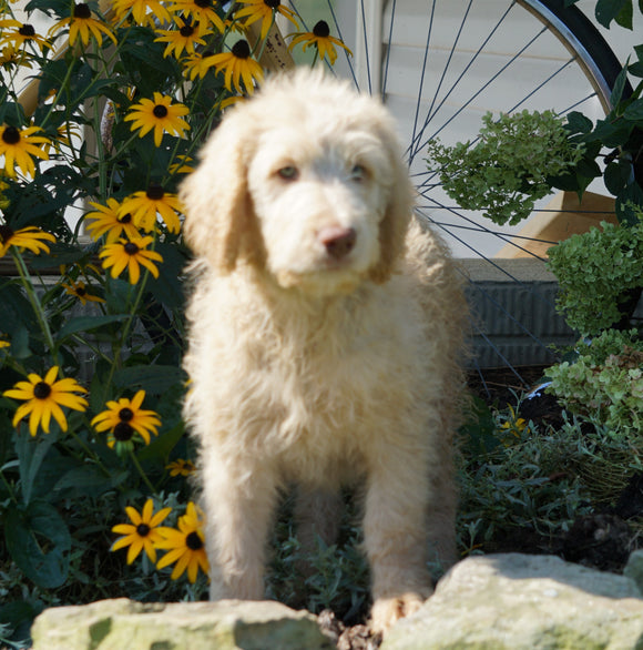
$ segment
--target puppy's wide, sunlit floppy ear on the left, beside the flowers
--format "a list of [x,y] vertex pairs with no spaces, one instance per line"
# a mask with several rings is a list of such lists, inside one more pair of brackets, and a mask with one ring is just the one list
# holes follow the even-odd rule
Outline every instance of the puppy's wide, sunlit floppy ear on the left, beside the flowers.
[[239,257],[259,265],[265,255],[247,187],[254,140],[238,112],[224,118],[180,189],[185,242],[221,273],[234,271]]

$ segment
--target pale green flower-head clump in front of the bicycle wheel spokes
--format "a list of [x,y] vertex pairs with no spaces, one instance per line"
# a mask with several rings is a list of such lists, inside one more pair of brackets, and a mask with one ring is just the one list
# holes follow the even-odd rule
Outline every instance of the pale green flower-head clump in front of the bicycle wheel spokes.
[[584,145],[569,140],[563,120],[552,111],[522,111],[498,120],[487,113],[482,122],[477,141],[429,143],[428,164],[458,205],[482,210],[498,224],[516,224],[551,193],[555,176],[578,164]]

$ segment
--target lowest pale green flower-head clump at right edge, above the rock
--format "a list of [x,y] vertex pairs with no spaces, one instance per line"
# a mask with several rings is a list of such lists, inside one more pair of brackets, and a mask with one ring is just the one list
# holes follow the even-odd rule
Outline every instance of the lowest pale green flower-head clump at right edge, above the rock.
[[548,368],[548,392],[610,435],[641,445],[643,341],[636,331],[608,329],[578,346],[578,358]]

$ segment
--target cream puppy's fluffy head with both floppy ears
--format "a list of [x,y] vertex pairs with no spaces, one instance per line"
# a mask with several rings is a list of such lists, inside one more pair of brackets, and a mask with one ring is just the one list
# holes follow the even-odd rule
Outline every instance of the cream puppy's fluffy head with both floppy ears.
[[248,263],[330,294],[388,280],[414,192],[381,104],[300,70],[226,114],[181,196],[187,243],[220,273]]

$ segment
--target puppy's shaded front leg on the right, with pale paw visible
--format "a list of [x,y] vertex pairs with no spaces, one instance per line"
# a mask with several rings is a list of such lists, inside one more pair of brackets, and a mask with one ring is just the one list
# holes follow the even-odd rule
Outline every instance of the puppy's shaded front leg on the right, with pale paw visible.
[[389,448],[371,466],[364,518],[371,571],[371,626],[388,630],[431,592],[427,569],[429,484],[422,453]]

